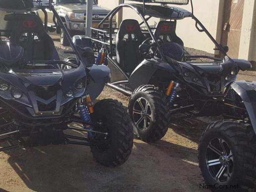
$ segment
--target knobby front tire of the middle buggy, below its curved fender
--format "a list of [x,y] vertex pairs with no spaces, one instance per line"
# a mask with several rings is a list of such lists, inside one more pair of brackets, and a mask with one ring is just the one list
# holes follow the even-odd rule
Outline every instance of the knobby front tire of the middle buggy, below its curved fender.
[[[148,102],[149,107],[142,109],[143,107],[139,104],[139,101],[144,105],[144,108],[147,108],[146,102]],[[138,123],[141,118],[138,111],[140,108],[144,119],[142,122]],[[168,130],[168,123],[170,121],[168,109],[167,99],[165,95],[158,90],[158,87],[154,85],[139,86],[134,90],[128,105],[128,112],[132,119],[134,134],[144,142],[156,142],[160,140]],[[145,111],[147,114],[144,114]],[[143,115],[141,114],[141,116]]]

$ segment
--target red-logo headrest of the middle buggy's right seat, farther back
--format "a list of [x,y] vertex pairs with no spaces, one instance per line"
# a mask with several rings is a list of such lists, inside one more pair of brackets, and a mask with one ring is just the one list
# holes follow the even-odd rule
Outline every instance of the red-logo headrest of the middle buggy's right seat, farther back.
[[154,35],[158,37],[163,34],[175,33],[176,23],[174,21],[160,21],[156,27]]

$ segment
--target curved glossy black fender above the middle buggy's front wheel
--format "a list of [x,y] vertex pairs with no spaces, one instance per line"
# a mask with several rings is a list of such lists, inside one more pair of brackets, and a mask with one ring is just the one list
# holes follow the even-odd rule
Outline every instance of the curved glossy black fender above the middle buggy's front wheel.
[[130,75],[129,87],[134,90],[140,85],[148,84],[152,76],[158,70],[177,73],[170,64],[160,59],[144,59]]

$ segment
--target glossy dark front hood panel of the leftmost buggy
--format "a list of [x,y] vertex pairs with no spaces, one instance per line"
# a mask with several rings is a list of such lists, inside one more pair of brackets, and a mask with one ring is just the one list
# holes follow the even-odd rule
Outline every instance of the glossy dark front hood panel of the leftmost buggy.
[[[6,91],[0,91],[0,97],[7,100],[15,100],[16,102],[25,104],[26,106],[34,106],[36,101],[43,102],[48,105],[54,100],[58,100],[62,106],[73,98],[77,98],[84,94],[86,88],[86,72],[83,65],[76,69],[36,69],[36,70],[15,70],[8,72],[0,72],[0,82],[9,85]],[[82,89],[76,89],[75,84],[78,81],[84,82]],[[22,92],[22,97],[14,99],[12,90],[18,89]],[[66,97],[68,90],[73,91],[71,97]],[[34,100],[34,102],[32,102]],[[38,114],[37,108],[34,108]]]

